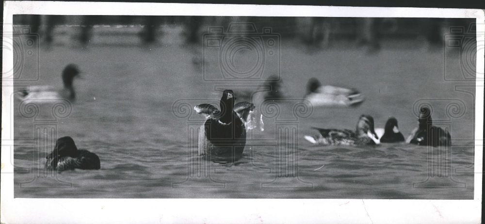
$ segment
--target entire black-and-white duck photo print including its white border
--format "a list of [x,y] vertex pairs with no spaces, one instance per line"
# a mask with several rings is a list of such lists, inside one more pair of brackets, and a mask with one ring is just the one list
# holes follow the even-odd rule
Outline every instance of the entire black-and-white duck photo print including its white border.
[[[74,222],[5,209],[58,199],[43,209],[187,199],[174,209],[244,213],[262,199],[338,199],[364,217],[344,223],[389,223],[377,210],[393,209],[375,203],[427,222],[481,220],[483,10],[7,3],[2,223]],[[421,223],[411,210],[400,222]],[[234,223],[277,223],[250,216]],[[287,222],[324,220],[309,217]]]

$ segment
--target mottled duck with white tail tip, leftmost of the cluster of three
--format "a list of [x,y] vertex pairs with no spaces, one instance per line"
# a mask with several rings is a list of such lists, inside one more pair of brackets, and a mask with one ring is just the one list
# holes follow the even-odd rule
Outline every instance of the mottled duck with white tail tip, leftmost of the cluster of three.
[[379,137],[374,131],[374,118],[362,114],[357,122],[356,131],[349,129],[314,128],[320,132],[317,136],[305,136],[313,144],[320,145],[374,145],[379,144]]

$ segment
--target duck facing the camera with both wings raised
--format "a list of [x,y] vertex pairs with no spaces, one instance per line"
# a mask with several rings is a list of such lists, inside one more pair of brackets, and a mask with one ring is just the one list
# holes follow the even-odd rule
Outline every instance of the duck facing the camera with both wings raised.
[[194,107],[207,120],[200,128],[198,150],[209,160],[236,161],[241,159],[246,144],[244,123],[254,105],[241,102],[234,105],[236,96],[232,90],[224,90],[220,110],[210,104]]

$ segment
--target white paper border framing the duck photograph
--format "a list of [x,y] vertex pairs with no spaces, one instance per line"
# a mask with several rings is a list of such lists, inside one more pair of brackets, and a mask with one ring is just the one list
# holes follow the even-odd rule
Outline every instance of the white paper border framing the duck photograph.
[[[15,14],[476,18],[477,42],[484,42],[484,35],[478,34],[485,31],[484,11],[479,9],[5,1],[3,38],[8,38],[8,32],[12,31]],[[2,60],[3,71],[12,69],[13,55],[3,54]],[[321,223],[324,220],[329,223],[479,223],[482,211],[483,71],[484,57],[477,53],[473,200],[14,198],[14,168],[10,163],[11,159],[13,161],[13,80],[3,80],[1,222],[228,224]]]

